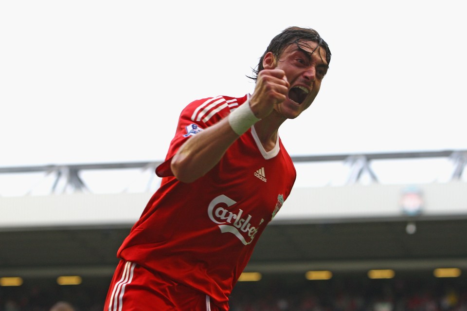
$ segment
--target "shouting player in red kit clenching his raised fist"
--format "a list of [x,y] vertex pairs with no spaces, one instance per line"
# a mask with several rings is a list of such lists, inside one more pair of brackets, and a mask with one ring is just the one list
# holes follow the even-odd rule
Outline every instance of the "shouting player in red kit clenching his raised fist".
[[181,112],[156,169],[161,187],[118,250],[106,311],[229,310],[295,181],[278,129],[311,105],[330,59],[315,30],[289,27],[261,57],[251,95],[200,99]]

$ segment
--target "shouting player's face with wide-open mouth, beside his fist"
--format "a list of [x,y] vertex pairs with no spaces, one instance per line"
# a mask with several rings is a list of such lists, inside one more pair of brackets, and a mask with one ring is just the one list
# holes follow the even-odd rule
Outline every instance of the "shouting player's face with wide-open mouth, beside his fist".
[[326,50],[314,41],[292,43],[269,67],[272,68],[265,69],[282,69],[286,73],[290,88],[287,99],[276,110],[287,119],[294,119],[311,105],[320,91],[328,69]]

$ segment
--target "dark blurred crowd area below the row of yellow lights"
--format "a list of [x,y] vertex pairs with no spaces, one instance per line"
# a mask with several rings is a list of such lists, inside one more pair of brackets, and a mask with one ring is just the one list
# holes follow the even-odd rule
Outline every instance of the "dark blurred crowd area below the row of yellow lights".
[[[327,281],[274,278],[241,283],[231,298],[232,311],[464,311],[467,284],[462,279],[404,276],[369,280],[348,276]],[[76,311],[100,311],[107,291],[101,280],[73,288],[38,283],[2,288],[0,311],[49,311],[67,300]]]

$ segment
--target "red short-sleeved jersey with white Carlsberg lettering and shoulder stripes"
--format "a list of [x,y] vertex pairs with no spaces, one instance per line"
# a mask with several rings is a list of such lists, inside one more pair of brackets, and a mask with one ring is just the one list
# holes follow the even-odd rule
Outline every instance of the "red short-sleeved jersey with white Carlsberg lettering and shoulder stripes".
[[118,251],[125,260],[206,293],[225,310],[256,241],[292,189],[295,168],[280,138],[266,152],[254,126],[193,183],[173,177],[170,160],[186,139],[248,97],[206,98],[182,111],[165,162],[156,169],[164,177],[161,187]]

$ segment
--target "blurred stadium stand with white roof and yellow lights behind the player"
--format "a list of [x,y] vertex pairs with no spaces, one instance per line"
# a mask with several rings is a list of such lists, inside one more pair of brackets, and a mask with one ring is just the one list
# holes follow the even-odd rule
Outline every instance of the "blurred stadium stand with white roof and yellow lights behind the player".
[[[293,160],[231,310],[467,310],[467,151]],[[0,167],[0,311],[102,310],[157,165]]]

